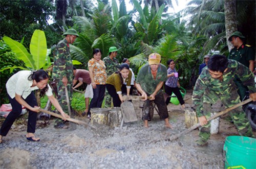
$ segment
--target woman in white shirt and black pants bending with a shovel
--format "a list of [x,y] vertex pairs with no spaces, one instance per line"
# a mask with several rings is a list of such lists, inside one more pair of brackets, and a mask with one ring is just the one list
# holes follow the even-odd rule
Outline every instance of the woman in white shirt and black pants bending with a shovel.
[[40,89],[40,95],[46,94],[51,103],[60,112],[64,120],[69,118],[63,112],[58,101],[54,98],[52,89],[48,84],[49,76],[45,70],[31,71],[22,70],[14,74],[6,83],[6,89],[9,101],[12,105],[12,111],[6,117],[0,129],[0,143],[2,143],[3,136],[6,136],[10,130],[15,119],[22,112],[22,106],[29,110],[28,129],[26,138],[30,141],[39,141],[40,138],[35,137],[36,117],[40,107],[37,107],[37,102],[33,90]]

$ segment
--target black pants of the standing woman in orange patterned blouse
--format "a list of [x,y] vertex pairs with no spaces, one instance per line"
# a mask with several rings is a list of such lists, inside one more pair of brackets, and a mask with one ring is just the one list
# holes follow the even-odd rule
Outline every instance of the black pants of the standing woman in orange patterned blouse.
[[91,114],[91,108],[101,108],[105,95],[106,85],[96,85],[96,89],[93,89],[93,99],[91,100],[88,115]]

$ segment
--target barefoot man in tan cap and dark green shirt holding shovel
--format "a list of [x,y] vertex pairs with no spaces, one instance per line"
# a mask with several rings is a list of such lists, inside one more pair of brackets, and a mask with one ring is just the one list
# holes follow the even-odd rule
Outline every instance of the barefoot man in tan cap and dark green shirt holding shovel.
[[[148,128],[148,121],[151,120],[151,102],[157,105],[158,114],[161,119],[164,119],[165,127],[172,128],[172,125],[169,124],[168,110],[161,90],[164,81],[167,80],[167,68],[160,64],[160,61],[161,56],[159,54],[150,54],[148,63],[141,67],[135,83],[137,90],[145,97],[142,110],[142,120],[144,120],[145,128]],[[152,99],[147,100],[147,96],[151,96]]]

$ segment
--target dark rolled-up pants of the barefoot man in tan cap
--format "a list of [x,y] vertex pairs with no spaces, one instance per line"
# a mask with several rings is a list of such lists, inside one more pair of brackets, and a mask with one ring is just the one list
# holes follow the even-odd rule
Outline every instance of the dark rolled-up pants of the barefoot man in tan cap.
[[[150,94],[146,93],[147,96],[150,96]],[[142,120],[151,120],[150,116],[150,102],[154,102],[157,105],[158,108],[158,114],[161,119],[168,118],[168,110],[167,106],[164,103],[164,97],[163,97],[163,92],[160,91],[156,96],[154,101],[146,100],[143,104],[143,109],[142,109]]]

